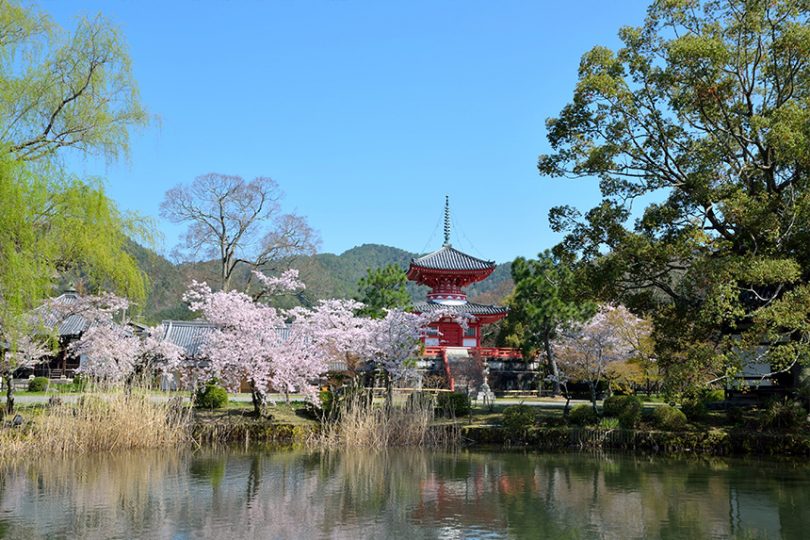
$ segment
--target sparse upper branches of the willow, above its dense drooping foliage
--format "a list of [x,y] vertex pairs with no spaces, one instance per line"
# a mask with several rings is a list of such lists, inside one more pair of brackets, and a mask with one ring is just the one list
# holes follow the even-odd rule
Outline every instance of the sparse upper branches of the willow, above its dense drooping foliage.
[[114,158],[144,125],[120,32],[101,16],[68,33],[43,13],[0,0],[0,147],[37,161],[60,148]]

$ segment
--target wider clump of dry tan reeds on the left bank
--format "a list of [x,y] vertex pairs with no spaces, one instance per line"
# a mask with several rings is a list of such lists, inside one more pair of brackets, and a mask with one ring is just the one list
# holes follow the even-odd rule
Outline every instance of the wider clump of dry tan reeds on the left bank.
[[89,393],[50,404],[22,428],[0,430],[0,462],[43,455],[177,447],[190,441],[191,411],[146,391]]

